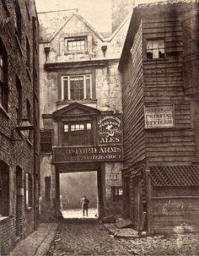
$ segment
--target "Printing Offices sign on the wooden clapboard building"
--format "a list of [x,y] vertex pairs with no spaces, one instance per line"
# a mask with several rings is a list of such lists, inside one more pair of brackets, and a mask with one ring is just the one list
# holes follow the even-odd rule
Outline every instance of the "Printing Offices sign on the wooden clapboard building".
[[173,106],[145,106],[145,128],[174,127]]

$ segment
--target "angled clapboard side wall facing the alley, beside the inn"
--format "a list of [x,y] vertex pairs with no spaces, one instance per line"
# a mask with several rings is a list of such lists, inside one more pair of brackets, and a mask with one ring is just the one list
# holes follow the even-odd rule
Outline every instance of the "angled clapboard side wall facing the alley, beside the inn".
[[123,122],[125,165],[145,158],[143,114],[143,40],[142,25],[135,35],[131,57],[123,74]]

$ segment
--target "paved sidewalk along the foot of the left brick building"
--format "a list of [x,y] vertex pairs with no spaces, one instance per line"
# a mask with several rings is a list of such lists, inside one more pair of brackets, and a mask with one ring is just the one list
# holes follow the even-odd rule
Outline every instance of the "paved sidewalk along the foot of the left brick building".
[[41,223],[30,236],[18,242],[9,256],[44,256],[56,237],[59,223]]

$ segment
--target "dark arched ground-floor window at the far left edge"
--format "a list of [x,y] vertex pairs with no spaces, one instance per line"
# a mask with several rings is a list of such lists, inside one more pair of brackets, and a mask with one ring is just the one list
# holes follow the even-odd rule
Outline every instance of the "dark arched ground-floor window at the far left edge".
[[9,215],[9,166],[0,161],[0,216]]

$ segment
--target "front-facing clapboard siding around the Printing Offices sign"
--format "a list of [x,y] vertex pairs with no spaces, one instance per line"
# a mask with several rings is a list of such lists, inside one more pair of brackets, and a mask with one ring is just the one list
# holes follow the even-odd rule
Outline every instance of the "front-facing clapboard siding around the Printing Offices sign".
[[[191,104],[184,94],[182,27],[178,17],[142,19],[145,105],[174,106],[175,128],[146,129],[149,165],[191,164],[195,155]],[[165,59],[148,60],[147,39],[164,38]]]

